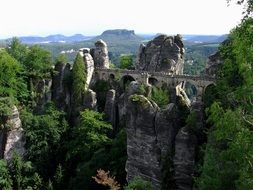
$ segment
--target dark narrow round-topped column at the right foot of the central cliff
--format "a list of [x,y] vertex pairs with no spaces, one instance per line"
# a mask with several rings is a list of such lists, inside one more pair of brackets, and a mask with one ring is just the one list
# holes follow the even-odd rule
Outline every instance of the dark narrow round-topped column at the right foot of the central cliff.
[[197,139],[187,127],[180,129],[175,140],[174,179],[177,190],[191,190]]

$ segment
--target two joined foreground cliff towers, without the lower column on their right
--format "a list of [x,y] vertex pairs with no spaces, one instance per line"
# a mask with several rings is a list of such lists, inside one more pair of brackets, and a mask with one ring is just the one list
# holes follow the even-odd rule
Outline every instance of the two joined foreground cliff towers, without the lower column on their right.
[[[137,95],[139,84],[131,82],[125,93],[126,131],[127,131],[127,180],[140,176],[150,180],[155,190],[162,188],[162,181],[168,173],[165,168],[172,167],[175,138],[181,128],[178,107],[170,103],[166,109],[160,108],[143,95]],[[128,98],[126,98],[128,97]],[[123,97],[122,97],[123,102]],[[124,113],[123,111],[123,113]],[[122,113],[122,114],[123,114]],[[167,173],[164,175],[164,173]]]

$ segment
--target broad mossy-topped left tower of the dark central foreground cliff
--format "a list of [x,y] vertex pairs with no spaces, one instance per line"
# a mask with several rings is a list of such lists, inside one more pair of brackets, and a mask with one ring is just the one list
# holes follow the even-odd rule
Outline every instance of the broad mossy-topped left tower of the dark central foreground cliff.
[[161,150],[157,144],[155,130],[155,116],[158,110],[158,106],[143,95],[129,97],[126,120],[127,180],[140,176],[151,180],[154,189],[161,187]]

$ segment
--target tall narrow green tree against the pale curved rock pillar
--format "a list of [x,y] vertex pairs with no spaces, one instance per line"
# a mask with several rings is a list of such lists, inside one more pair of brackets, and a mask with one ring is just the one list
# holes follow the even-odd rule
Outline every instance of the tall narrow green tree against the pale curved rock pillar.
[[73,96],[76,103],[80,103],[86,91],[86,64],[78,53],[73,65]]

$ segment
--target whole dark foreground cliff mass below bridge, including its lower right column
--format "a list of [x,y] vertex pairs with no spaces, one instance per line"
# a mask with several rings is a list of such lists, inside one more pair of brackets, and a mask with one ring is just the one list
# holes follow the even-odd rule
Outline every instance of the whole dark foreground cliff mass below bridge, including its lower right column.
[[151,181],[155,190],[190,190],[196,137],[183,130],[188,129],[181,110],[189,111],[186,100],[178,96],[179,101],[160,109],[150,98],[138,95],[139,87],[131,82],[119,98],[119,120],[127,131],[127,180],[140,176]]

